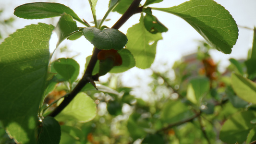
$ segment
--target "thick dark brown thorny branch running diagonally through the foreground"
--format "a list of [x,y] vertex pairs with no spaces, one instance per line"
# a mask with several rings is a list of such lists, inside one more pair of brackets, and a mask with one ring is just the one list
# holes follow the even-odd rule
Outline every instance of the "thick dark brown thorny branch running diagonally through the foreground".
[[[139,7],[141,0],[134,0],[130,7],[127,9],[127,11],[122,15],[122,17],[114,24],[111,28],[119,29],[122,24],[124,24],[131,16],[133,16],[135,13],[142,12],[142,8]],[[97,55],[100,49],[95,48],[92,58],[88,63],[88,66],[86,68],[85,74],[80,80],[80,82],[75,86],[75,88],[72,90],[72,92],[64,98],[64,100],[61,102],[61,104],[55,108],[49,116],[55,117],[57,116],[61,110],[63,110],[71,101],[72,99],[82,90],[82,88],[87,83],[94,83],[94,81],[98,80],[98,76],[94,75],[92,76],[93,69],[95,67],[95,64],[97,62]]]

